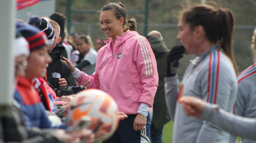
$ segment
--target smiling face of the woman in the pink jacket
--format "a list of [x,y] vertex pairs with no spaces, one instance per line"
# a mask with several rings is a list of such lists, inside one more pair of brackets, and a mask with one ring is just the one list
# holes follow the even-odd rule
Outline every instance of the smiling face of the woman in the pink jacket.
[[106,37],[111,37],[115,41],[116,36],[121,36],[124,32],[123,22],[124,18],[116,19],[113,10],[102,11],[100,13],[100,27],[105,33]]

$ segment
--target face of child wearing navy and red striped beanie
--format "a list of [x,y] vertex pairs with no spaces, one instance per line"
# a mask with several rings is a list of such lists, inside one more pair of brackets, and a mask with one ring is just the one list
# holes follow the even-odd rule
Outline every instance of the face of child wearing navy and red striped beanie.
[[28,57],[28,65],[25,70],[26,77],[34,78],[43,76],[47,64],[50,62],[52,62],[52,58],[48,54],[46,46],[32,51]]

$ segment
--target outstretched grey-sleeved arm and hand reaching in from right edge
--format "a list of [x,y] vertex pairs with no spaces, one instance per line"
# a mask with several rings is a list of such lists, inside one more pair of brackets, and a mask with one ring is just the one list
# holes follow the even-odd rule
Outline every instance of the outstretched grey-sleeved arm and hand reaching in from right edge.
[[206,120],[231,134],[256,141],[255,118],[234,115],[220,109],[218,105],[206,103],[197,97],[183,96],[179,103],[183,104],[187,116]]

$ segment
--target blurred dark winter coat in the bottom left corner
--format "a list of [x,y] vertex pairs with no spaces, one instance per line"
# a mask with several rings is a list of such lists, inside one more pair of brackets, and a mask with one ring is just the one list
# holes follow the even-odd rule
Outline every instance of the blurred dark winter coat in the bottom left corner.
[[[64,143],[54,130],[27,128],[23,112],[15,102],[9,108],[4,108],[0,118],[0,142],[1,143]],[[8,113],[4,115],[3,113]]]

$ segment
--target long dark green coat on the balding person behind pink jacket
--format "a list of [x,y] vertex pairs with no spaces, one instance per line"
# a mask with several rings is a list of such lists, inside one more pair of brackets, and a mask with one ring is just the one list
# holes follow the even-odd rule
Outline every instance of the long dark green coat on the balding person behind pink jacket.
[[166,72],[166,56],[169,52],[165,43],[153,36],[147,37],[150,46],[155,54],[157,61],[157,71],[158,71],[158,88],[154,98],[153,104],[153,118],[152,123],[155,125],[155,128],[159,128],[162,125],[165,125],[171,120],[171,117],[168,114],[166,100],[165,100],[165,91],[164,91],[164,78]]

